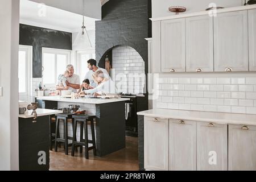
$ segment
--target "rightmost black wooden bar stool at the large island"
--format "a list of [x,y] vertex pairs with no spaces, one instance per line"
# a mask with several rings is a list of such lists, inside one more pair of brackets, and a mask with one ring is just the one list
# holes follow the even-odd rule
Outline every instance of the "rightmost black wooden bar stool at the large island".
[[[77,142],[75,138],[73,138],[72,152],[71,152],[72,156],[75,156],[75,147],[77,146],[80,146],[80,153],[82,153],[82,146],[85,146],[86,159],[89,159],[89,150],[93,150],[93,155],[96,156],[96,140],[95,140],[94,122],[93,122],[94,118],[96,118],[95,115],[87,115],[87,114],[73,115],[73,119],[74,119],[73,135],[76,135],[77,123],[80,123],[80,142]],[[88,122],[90,122],[90,128],[92,131],[92,140],[88,140]],[[83,139],[84,133],[85,133],[85,139]],[[92,143],[93,146],[89,147],[88,146],[89,143]]]

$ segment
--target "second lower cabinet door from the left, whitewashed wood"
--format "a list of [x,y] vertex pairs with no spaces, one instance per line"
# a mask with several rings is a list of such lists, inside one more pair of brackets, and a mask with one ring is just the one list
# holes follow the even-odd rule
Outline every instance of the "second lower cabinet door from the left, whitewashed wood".
[[170,171],[196,171],[196,122],[169,121]]

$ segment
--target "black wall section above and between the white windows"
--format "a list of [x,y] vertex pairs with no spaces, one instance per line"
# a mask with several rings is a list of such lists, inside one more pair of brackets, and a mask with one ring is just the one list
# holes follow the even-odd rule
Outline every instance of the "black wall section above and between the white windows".
[[20,24],[19,44],[33,46],[33,78],[40,78],[42,77],[42,47],[72,50],[72,34]]

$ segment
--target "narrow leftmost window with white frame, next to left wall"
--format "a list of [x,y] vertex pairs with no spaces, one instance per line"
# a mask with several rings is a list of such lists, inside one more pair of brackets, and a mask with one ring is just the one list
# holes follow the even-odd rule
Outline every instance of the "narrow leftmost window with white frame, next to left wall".
[[[22,98],[30,94],[30,77],[32,68],[32,47],[19,46],[18,76],[19,76],[19,95]],[[24,99],[26,100],[26,99]]]

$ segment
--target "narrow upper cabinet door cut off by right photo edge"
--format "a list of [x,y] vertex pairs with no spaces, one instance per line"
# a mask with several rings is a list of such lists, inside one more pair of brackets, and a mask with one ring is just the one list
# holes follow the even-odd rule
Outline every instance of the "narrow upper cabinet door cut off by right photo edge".
[[256,10],[248,11],[250,71],[256,71]]

